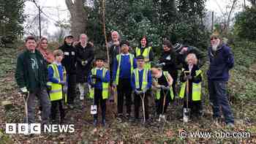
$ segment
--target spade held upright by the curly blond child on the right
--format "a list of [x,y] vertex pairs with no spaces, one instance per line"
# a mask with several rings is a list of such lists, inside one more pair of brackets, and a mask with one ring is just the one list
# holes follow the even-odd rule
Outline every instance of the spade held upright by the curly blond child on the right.
[[[189,73],[190,75],[190,72],[189,71],[185,71],[185,76],[186,73]],[[190,110],[189,110],[189,80],[187,80],[186,82],[186,103],[187,103],[187,107],[184,108],[183,110],[183,121],[184,123],[187,123],[189,121],[189,113],[190,113]]]

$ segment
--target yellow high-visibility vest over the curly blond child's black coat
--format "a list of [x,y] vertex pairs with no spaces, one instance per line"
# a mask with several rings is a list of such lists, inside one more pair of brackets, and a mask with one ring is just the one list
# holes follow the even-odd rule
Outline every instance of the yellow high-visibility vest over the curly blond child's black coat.
[[[195,76],[197,77],[198,75],[202,76],[202,71],[200,69],[195,71]],[[179,93],[179,96],[181,98],[184,98],[184,94],[186,91],[186,84],[187,84],[187,81],[181,84],[181,91]],[[201,82],[192,83],[192,101],[198,101],[198,100],[201,100]]]

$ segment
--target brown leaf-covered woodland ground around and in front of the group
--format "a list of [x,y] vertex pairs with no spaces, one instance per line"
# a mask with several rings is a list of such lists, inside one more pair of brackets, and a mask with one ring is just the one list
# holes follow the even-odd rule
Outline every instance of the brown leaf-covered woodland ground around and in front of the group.
[[[165,123],[152,121],[150,124],[132,123],[116,118],[116,107],[108,102],[107,126],[92,125],[89,112],[91,101],[86,99],[85,107],[67,110],[66,122],[75,124],[74,133],[34,134],[26,137],[23,134],[5,134],[5,124],[21,123],[23,120],[23,101],[18,96],[15,85],[14,69],[15,49],[0,50],[0,102],[10,101],[11,107],[0,105],[0,143],[256,143],[256,50],[247,52],[240,48],[234,49],[236,67],[231,72],[229,82],[229,97],[236,118],[235,129],[227,129],[225,124],[214,124],[211,107],[208,104],[207,90],[204,94],[204,115],[184,124],[180,121],[181,100],[168,107]],[[255,56],[255,58],[253,57]],[[246,60],[246,58],[250,58]],[[79,104],[79,100],[77,100]],[[151,102],[151,117],[154,118],[154,102]],[[38,106],[38,103],[37,103]],[[36,113],[38,112],[38,107]],[[99,118],[100,120],[100,118]],[[39,114],[36,114],[39,122]],[[187,132],[187,137],[181,137],[181,132]],[[211,137],[192,137],[191,132],[212,132]],[[214,132],[250,132],[244,133],[244,138],[220,137]],[[241,133],[240,133],[241,134]],[[219,137],[214,137],[219,136]],[[250,137],[249,137],[250,136]]]

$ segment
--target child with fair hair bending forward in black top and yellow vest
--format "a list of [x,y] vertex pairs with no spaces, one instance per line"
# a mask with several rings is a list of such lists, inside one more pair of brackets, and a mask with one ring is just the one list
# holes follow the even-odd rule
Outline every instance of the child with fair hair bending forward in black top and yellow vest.
[[[174,98],[173,95],[173,78],[170,76],[169,72],[162,71],[159,67],[151,68],[152,76],[154,77],[153,88],[157,89],[156,94],[156,106],[157,106],[157,115],[164,114],[167,109],[167,105],[170,100]],[[166,95],[165,95],[166,94]],[[165,97],[165,107],[164,105],[164,96]]]

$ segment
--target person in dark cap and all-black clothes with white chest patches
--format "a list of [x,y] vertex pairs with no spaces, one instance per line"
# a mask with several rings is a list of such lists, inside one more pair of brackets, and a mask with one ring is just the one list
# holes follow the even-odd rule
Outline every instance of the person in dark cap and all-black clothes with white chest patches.
[[73,108],[74,99],[76,97],[76,61],[77,61],[77,51],[72,46],[73,36],[68,35],[64,38],[64,45],[59,49],[64,52],[64,58],[61,64],[65,67],[67,71],[67,103],[70,108]]

